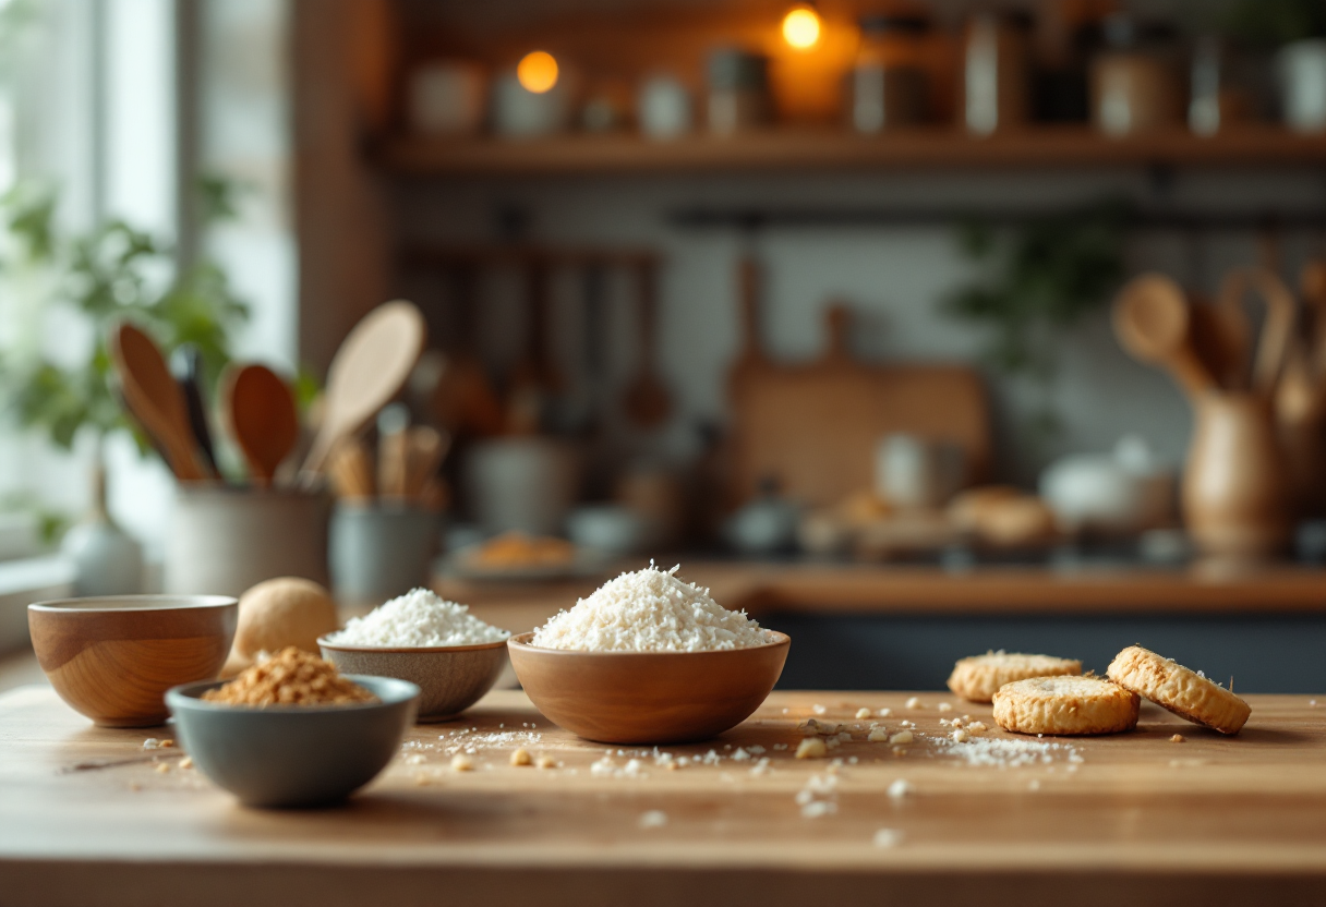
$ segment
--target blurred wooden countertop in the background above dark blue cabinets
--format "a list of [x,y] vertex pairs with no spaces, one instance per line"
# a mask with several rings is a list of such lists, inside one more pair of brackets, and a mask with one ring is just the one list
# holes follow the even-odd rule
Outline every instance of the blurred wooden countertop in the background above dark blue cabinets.
[[[634,569],[627,565],[625,569]],[[751,614],[1257,614],[1326,615],[1326,570],[1293,565],[1235,569],[751,564],[691,561],[682,575],[708,586],[729,609]],[[438,591],[468,602],[485,621],[528,630],[570,607],[602,581],[464,582],[439,577]],[[508,619],[503,619],[503,613]],[[521,626],[516,627],[516,623]]]

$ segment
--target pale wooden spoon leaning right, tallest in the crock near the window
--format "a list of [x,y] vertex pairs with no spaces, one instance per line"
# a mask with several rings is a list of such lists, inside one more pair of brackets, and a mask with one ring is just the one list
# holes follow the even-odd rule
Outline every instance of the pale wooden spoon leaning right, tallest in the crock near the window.
[[396,300],[370,312],[341,343],[324,395],[322,424],[301,469],[309,484],[335,443],[359,431],[400,393],[423,353],[423,314]]

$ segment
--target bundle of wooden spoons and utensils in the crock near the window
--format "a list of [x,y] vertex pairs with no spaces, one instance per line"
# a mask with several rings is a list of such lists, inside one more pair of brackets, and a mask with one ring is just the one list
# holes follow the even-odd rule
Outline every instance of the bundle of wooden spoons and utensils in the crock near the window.
[[[300,484],[316,484],[332,448],[358,432],[400,391],[423,342],[423,316],[410,302],[387,302],[355,325],[332,361],[324,416]],[[110,357],[126,408],[175,477],[184,483],[219,481],[196,353],[186,351],[184,377],[176,382],[156,343],[123,322],[111,330]],[[267,366],[231,363],[221,375],[220,406],[253,485],[271,488],[278,467],[300,440],[300,418],[289,385]],[[430,443],[439,446],[436,440]]]

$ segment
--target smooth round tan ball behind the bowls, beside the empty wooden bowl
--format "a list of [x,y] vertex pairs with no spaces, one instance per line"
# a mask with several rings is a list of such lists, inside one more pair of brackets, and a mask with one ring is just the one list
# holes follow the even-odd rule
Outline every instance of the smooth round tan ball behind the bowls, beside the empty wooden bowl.
[[239,610],[235,644],[221,676],[239,674],[259,652],[278,652],[286,646],[317,655],[318,636],[338,626],[328,590],[296,577],[260,582],[240,595]]

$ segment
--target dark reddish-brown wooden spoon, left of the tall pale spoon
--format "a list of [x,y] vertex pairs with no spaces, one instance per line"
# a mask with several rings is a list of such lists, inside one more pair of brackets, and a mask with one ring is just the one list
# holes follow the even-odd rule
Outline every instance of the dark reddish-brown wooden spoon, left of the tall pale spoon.
[[263,365],[231,365],[221,375],[221,411],[259,488],[271,488],[277,468],[300,442],[294,394]]

